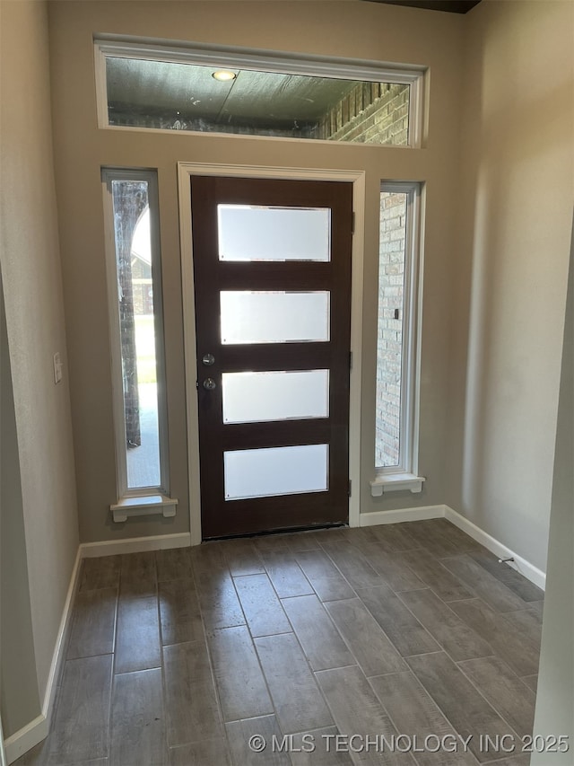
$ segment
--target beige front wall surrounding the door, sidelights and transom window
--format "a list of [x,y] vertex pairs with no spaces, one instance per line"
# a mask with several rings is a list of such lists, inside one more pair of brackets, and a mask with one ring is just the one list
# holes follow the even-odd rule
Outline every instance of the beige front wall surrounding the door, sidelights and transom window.
[[[211,162],[365,170],[365,355],[361,494],[364,511],[444,501],[450,275],[455,257],[458,103],[463,19],[455,14],[343,2],[52,2],[50,8],[57,195],[74,412],[82,541],[188,529],[187,452],[176,163]],[[114,33],[430,66],[428,147],[407,150],[250,137],[99,130],[92,35]],[[158,168],[165,292],[171,490],[175,520],[125,525],[116,501],[100,166]],[[378,182],[427,181],[422,339],[421,495],[373,500]]]

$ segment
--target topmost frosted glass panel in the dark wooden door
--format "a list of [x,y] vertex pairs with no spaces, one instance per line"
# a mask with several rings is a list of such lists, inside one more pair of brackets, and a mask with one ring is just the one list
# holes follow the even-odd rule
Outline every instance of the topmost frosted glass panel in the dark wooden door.
[[218,205],[220,260],[330,260],[328,207]]

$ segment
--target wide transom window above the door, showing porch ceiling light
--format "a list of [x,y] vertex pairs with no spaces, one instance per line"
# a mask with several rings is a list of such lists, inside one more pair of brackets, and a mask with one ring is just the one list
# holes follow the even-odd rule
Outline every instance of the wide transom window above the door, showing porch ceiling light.
[[100,127],[418,145],[422,70],[96,43]]

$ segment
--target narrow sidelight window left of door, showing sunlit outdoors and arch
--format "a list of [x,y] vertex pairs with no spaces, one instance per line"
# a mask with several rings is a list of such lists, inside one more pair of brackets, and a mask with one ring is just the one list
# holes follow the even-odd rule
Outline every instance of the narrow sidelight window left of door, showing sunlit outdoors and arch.
[[[167,493],[157,179],[104,170],[117,494]],[[132,503],[133,505],[133,503]]]

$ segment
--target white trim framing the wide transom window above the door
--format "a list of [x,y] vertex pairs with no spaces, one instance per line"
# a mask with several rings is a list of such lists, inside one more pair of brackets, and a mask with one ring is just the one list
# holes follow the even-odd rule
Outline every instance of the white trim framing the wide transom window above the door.
[[[178,40],[139,40],[100,34],[94,38],[94,65],[96,77],[96,102],[98,128],[107,130],[145,131],[166,133],[161,128],[136,128],[123,125],[109,125],[108,89],[106,82],[106,57],[139,58],[147,61],[165,61],[174,64],[196,64],[217,68],[265,69],[284,75],[310,75],[331,77],[340,80],[373,80],[392,84],[410,85],[409,130],[405,146],[391,144],[361,144],[347,142],[352,146],[387,146],[394,149],[418,149],[423,144],[423,114],[425,80],[428,67],[418,65],[396,65],[389,62],[343,57],[301,56],[262,48],[236,48],[232,46],[210,46]],[[314,144],[333,145],[324,139],[290,138],[288,136],[257,136],[236,133],[201,132],[196,130],[172,130],[183,136],[220,136],[225,138],[257,138],[267,141],[311,141]]]

